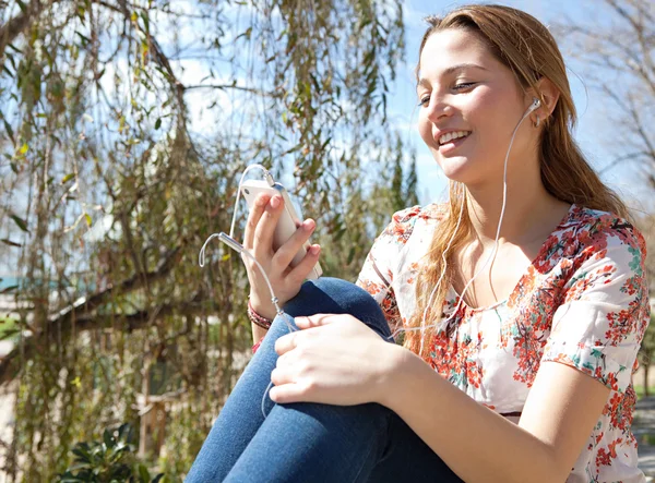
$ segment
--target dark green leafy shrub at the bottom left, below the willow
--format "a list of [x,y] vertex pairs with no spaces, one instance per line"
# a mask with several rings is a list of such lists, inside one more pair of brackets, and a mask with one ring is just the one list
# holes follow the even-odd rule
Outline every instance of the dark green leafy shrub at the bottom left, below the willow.
[[134,455],[131,433],[132,427],[126,423],[105,430],[102,442],[78,443],[72,451],[74,466],[61,474],[59,482],[157,483],[164,473],[151,480],[147,467],[138,462]]

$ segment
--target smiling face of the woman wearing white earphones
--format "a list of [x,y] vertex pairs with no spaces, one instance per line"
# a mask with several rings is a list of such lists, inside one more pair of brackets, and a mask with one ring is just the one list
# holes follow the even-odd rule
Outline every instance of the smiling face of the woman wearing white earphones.
[[[419,65],[418,130],[445,176],[468,188],[502,180],[512,132],[532,97],[480,37],[463,28],[432,34]],[[538,167],[535,131],[526,118],[512,145],[510,171]]]

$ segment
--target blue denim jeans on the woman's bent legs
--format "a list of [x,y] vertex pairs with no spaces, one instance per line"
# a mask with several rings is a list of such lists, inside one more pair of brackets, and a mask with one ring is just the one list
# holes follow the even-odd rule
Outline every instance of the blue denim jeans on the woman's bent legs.
[[[349,313],[390,339],[378,303],[359,287],[323,277],[303,283],[285,305],[291,316]],[[287,317],[289,319],[290,317]],[[187,483],[462,482],[390,409],[367,403],[274,404],[266,395],[287,334],[276,317],[205,439]]]

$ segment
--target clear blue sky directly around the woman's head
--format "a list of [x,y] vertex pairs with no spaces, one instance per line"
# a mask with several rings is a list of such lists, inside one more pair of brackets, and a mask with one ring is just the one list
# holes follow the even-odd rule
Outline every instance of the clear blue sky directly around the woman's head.
[[[471,2],[442,1],[442,0],[405,0],[405,23],[407,56],[395,85],[395,93],[390,105],[391,119],[400,126],[405,140],[409,141],[417,149],[419,170],[419,194],[420,202],[428,203],[433,200],[443,198],[446,179],[432,159],[427,147],[424,145],[416,131],[417,112],[415,82],[412,69],[418,60],[418,47],[426,25],[422,19],[429,14],[443,14],[454,7]],[[598,9],[598,0],[516,0],[500,2],[524,10],[544,24],[551,25],[557,21],[571,20],[586,25],[607,25],[611,19],[604,9]],[[585,67],[575,62],[568,56],[568,47],[563,44],[560,49],[564,55],[569,68],[569,80],[575,106],[579,113],[579,123],[574,132],[575,138],[587,156],[592,166],[602,170],[611,162],[616,155],[616,142],[611,140],[612,125],[609,120],[609,99],[595,93],[588,81],[585,80]],[[586,88],[585,88],[586,86]],[[612,154],[614,153],[614,154]],[[638,181],[639,173],[630,166],[608,170],[603,174],[611,188],[617,190],[629,203],[638,209],[644,208],[643,202],[650,196],[650,190]]]

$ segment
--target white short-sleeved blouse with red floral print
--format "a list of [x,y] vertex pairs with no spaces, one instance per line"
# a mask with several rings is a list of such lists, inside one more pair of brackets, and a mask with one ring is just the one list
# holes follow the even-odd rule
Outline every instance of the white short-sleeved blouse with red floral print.
[[[380,303],[392,333],[416,310],[415,280],[444,205],[393,216],[357,285]],[[557,361],[611,389],[568,483],[644,482],[631,432],[632,374],[650,322],[642,234],[609,213],[572,205],[510,297],[473,309],[451,288],[454,330],[439,331],[427,362],[473,399],[520,415],[539,364]]]

